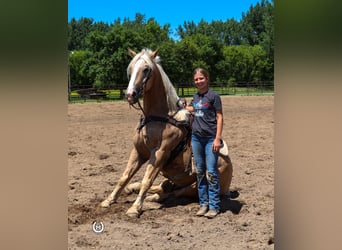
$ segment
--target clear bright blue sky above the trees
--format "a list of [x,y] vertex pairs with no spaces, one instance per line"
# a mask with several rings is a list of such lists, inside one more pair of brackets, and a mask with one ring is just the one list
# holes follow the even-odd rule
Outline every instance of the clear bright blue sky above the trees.
[[160,25],[169,23],[171,31],[175,31],[184,21],[239,21],[242,12],[257,2],[261,0],[68,0],[68,21],[88,17],[95,22],[113,23],[117,18],[134,20],[135,14],[140,13]]

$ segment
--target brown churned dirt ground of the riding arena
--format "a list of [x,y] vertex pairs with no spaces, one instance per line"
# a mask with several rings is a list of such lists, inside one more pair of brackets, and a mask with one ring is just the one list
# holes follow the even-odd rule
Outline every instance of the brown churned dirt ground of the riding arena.
[[[188,198],[145,202],[140,218],[125,215],[135,194],[97,210],[126,166],[140,113],[125,101],[69,104],[69,249],[274,249],[274,97],[222,103],[234,172],[232,199],[222,197],[214,219],[196,217],[198,201]],[[93,222],[104,231],[93,232]]]

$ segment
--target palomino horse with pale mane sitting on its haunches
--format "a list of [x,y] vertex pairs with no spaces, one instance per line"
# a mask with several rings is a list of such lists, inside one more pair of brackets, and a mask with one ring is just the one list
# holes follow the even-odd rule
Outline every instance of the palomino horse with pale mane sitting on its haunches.
[[[153,193],[147,199],[160,201],[170,195],[197,196],[196,173],[191,163],[190,113],[183,108],[169,78],[162,69],[158,51],[144,49],[136,53],[128,65],[129,80],[126,91],[130,105],[138,103],[142,117],[134,134],[134,148],[123,175],[113,192],[100,206],[109,207],[116,202],[120,193],[138,191],[133,205],[127,210],[129,216],[138,217],[147,192]],[[143,97],[143,106],[139,98]],[[128,185],[133,175],[147,162],[141,183]],[[227,155],[220,155],[218,161],[221,194],[229,190],[232,179],[232,164]],[[152,186],[161,173],[166,180]],[[146,200],[147,200],[146,199]]]

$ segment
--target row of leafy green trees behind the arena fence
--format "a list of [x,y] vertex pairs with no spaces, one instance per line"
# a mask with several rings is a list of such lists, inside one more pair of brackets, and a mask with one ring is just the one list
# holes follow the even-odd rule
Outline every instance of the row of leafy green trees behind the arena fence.
[[128,48],[160,48],[162,67],[174,84],[192,84],[196,67],[206,68],[211,82],[273,82],[274,4],[261,0],[240,21],[184,21],[175,34],[169,24],[141,13],[111,24],[73,18],[68,23],[71,89],[126,86]]

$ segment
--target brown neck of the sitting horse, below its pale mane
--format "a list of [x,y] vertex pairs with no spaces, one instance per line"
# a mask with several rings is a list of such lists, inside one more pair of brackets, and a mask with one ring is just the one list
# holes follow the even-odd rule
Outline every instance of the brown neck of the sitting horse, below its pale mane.
[[160,74],[151,79],[152,88],[144,93],[144,112],[147,116],[167,116],[169,108],[164,84]]

